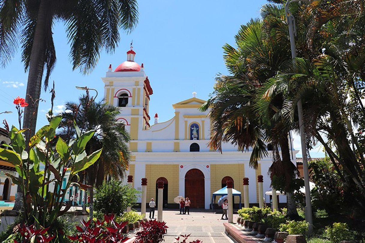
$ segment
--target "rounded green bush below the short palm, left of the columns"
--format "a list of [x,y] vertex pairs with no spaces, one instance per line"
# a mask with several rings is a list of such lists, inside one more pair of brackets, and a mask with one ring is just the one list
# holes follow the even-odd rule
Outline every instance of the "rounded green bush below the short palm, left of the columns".
[[104,182],[96,189],[94,209],[106,215],[122,215],[127,207],[133,207],[137,203],[139,193],[130,185],[122,185],[121,181]]

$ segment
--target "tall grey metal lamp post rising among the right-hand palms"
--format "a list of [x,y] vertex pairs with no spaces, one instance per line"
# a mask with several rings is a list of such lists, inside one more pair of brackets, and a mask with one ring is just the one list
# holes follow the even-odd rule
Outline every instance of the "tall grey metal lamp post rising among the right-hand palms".
[[[289,38],[290,47],[292,51],[293,64],[295,64],[296,49],[295,49],[295,19],[292,13],[289,11],[289,4],[293,2],[299,2],[300,0],[291,0],[285,3],[285,15],[287,16],[287,24],[289,26]],[[303,0],[302,0],[303,1]],[[304,0],[303,2],[309,3],[310,0]],[[304,188],[306,189],[306,221],[309,223],[309,234],[311,234],[313,229],[313,219],[312,219],[312,204],[311,204],[311,192],[309,188],[309,173],[308,173],[308,160],[307,160],[307,148],[306,148],[306,138],[304,137],[304,121],[303,121],[303,104],[301,99],[298,101],[298,116],[299,116],[299,131],[301,140],[301,152],[303,157],[303,171],[304,171]]]

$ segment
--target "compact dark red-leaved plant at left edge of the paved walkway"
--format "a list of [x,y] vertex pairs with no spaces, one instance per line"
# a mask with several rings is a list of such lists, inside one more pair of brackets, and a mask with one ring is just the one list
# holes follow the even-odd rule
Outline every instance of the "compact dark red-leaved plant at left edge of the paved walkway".
[[149,220],[141,223],[142,231],[137,232],[137,243],[160,243],[167,233],[165,222]]

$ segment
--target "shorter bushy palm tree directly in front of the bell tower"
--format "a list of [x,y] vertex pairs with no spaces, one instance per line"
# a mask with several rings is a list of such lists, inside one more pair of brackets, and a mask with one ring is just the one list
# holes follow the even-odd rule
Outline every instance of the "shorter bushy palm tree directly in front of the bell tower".
[[[72,139],[76,134],[73,126],[75,121],[81,131],[89,131],[90,128],[96,130],[85,148],[87,155],[103,148],[99,160],[87,169],[84,177],[85,182],[92,186],[90,188],[92,203],[94,186],[103,184],[106,177],[115,179],[124,177],[130,161],[128,147],[130,136],[124,130],[124,124],[116,120],[120,112],[119,108],[105,104],[104,100],[96,102],[93,98],[90,99],[87,93],[80,97],[79,103],[68,102],[65,107],[59,136],[65,140]],[[90,215],[92,213],[91,207]]]

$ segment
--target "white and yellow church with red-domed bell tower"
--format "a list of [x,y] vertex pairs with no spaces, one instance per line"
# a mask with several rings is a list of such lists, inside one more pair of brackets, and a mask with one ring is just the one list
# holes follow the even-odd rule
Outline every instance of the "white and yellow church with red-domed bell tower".
[[[114,71],[110,65],[106,76],[101,78],[106,101],[121,108],[118,120],[130,132],[132,160],[127,175],[133,176],[134,188],[141,190],[141,179],[147,178],[149,201],[157,198],[156,184],[163,180],[165,206],[178,207],[173,199],[184,196],[190,198],[192,208],[209,209],[212,193],[226,186],[228,180],[232,180],[234,189],[242,193],[243,202],[242,180],[247,177],[249,202],[258,204],[258,175],[264,176],[264,192],[271,190],[270,151],[255,170],[249,166],[251,151],[238,151],[231,143],[222,145],[222,154],[210,150],[207,146],[211,127],[209,111],[199,111],[205,100],[199,99],[195,92],[186,100],[172,101],[175,110],[172,118],[158,121],[158,111],[150,114],[149,107],[153,102],[154,81],[147,77],[143,63],[135,62],[135,55],[131,47],[127,61]],[[298,151],[292,151],[295,163]],[[279,197],[280,202],[286,202],[284,196]],[[239,202],[238,198],[235,200],[235,203]]]

